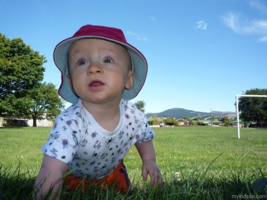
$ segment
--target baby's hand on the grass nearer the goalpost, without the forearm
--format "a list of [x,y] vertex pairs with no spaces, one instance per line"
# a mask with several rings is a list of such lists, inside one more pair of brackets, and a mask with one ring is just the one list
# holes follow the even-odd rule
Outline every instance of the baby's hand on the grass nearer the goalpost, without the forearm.
[[145,160],[143,162],[142,176],[144,181],[147,180],[148,174],[150,175],[150,182],[153,187],[157,186],[157,183],[159,183],[160,187],[163,185],[162,175],[154,160]]

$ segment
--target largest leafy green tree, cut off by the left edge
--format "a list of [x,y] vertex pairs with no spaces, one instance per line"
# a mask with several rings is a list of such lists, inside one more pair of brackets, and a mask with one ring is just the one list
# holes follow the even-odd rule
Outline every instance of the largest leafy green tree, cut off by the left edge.
[[46,62],[21,38],[10,40],[0,33],[0,114],[21,113],[28,91],[44,78]]

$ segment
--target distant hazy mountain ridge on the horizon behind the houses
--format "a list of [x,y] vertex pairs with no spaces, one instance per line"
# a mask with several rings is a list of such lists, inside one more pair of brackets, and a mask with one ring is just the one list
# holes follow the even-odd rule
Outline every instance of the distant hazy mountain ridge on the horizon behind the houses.
[[[234,112],[221,112],[221,111],[212,111],[212,114],[215,116],[227,116],[230,114],[235,114]],[[199,111],[193,111],[193,110],[186,110],[183,108],[172,108],[168,109],[166,111],[160,112],[160,113],[147,113],[146,116],[147,118],[153,117],[174,117],[176,119],[179,119],[181,117],[210,117],[210,113],[205,113],[205,112],[199,112]]]

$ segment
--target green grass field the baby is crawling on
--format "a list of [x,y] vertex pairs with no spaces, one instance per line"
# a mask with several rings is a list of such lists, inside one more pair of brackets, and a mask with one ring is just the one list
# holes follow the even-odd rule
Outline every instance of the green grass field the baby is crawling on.
[[[50,128],[0,128],[1,200],[30,199],[42,161],[40,147],[49,131]],[[235,128],[227,127],[154,131],[157,164],[165,179],[162,189],[155,190],[149,181],[142,181],[141,160],[133,147],[124,160],[132,181],[128,194],[113,189],[99,193],[95,188],[74,193],[65,189],[62,199],[257,199],[250,184],[267,177],[267,129],[240,129],[240,139]],[[262,197],[266,198],[258,199]]]

